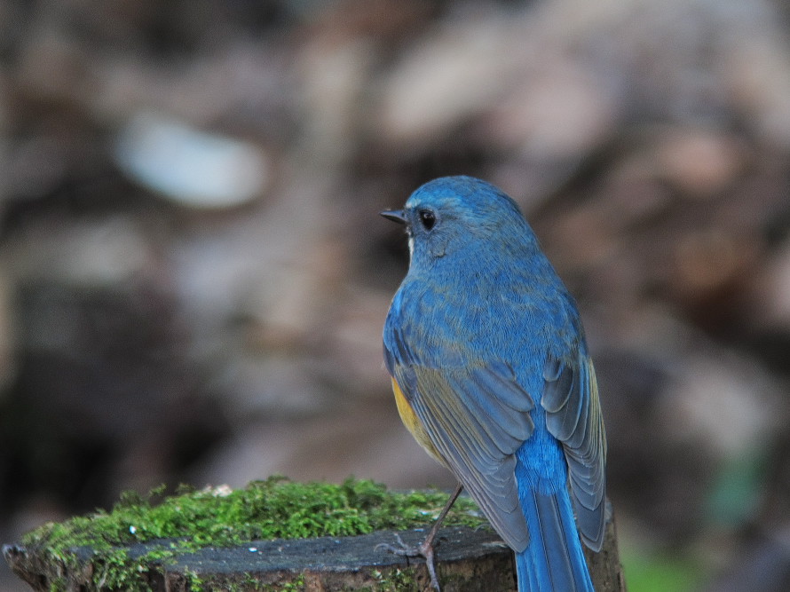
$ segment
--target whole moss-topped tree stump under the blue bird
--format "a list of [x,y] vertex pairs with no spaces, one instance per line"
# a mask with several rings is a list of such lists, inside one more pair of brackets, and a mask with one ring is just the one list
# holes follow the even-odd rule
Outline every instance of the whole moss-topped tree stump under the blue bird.
[[[383,486],[367,481],[347,481],[344,485],[291,484],[288,481],[272,480],[261,482],[268,495],[274,491],[269,486],[295,486],[297,502],[306,505],[310,512],[326,515],[326,508],[316,509],[304,488],[319,488],[318,495],[332,498],[334,489],[343,489],[351,498],[359,498],[362,506],[367,505],[367,514],[374,520],[361,520],[359,524],[375,526],[381,517],[371,503],[380,509],[392,504],[391,509],[411,515],[407,524],[422,520],[430,525],[434,506],[446,494],[390,493]],[[253,488],[250,484],[247,490]],[[359,496],[363,491],[365,495]],[[311,490],[312,492],[312,490]],[[371,501],[370,493],[375,493]],[[257,489],[255,490],[257,495]],[[375,530],[355,536],[308,536],[304,538],[245,538],[244,534],[256,530],[226,525],[219,532],[239,531],[233,537],[204,536],[186,531],[178,537],[147,537],[146,533],[172,533],[168,530],[169,515],[162,518],[157,511],[162,507],[177,509],[188,515],[186,522],[201,528],[205,517],[217,520],[216,508],[206,510],[206,516],[195,513],[190,506],[195,493],[187,496],[166,498],[162,504],[151,505],[142,501],[141,507],[128,501],[116,505],[112,512],[99,512],[90,517],[76,517],[59,525],[44,525],[28,533],[21,544],[6,545],[3,554],[12,570],[34,590],[429,590],[430,582],[422,559],[409,559],[393,555],[386,550],[376,549],[380,543],[396,543],[396,533],[408,545],[419,543],[425,536],[425,528],[398,530]],[[412,497],[408,497],[411,495]],[[401,496],[401,497],[399,497]],[[407,496],[407,497],[402,497]],[[364,498],[364,499],[363,499]],[[201,503],[207,501],[204,493],[196,493]],[[332,498],[334,499],[334,498]],[[244,508],[255,506],[257,497],[241,497]],[[394,503],[392,503],[394,500]],[[418,500],[416,505],[414,501]],[[139,501],[139,500],[138,500]],[[212,500],[208,499],[209,502]],[[212,508],[225,503],[224,498],[213,501]],[[429,509],[418,509],[422,505]],[[498,592],[516,589],[513,554],[499,537],[480,522],[475,512],[470,511],[469,500],[462,501],[460,511],[450,518],[451,525],[439,531],[436,547],[438,577],[442,589],[475,590]],[[330,504],[332,505],[332,504]],[[341,504],[342,505],[342,504]],[[473,507],[473,506],[472,506]],[[343,517],[347,518],[348,509]],[[163,511],[163,510],[162,510]],[[203,511],[203,510],[201,510]],[[253,513],[272,508],[251,509]],[[287,510],[288,511],[288,510]],[[293,511],[293,509],[291,509]],[[233,509],[235,516],[237,509]],[[161,514],[162,512],[160,512]],[[179,514],[180,515],[180,514]],[[354,515],[352,513],[352,515]],[[472,519],[470,524],[469,519]],[[249,520],[242,516],[241,520]],[[277,519],[276,517],[274,519]],[[284,519],[284,518],[283,518]],[[402,517],[395,520],[401,524]],[[329,523],[330,518],[327,518]],[[475,521],[478,524],[475,525]],[[129,524],[134,523],[134,524]],[[161,524],[160,524],[161,523]],[[453,523],[455,523],[453,525]],[[460,523],[460,524],[459,524]],[[162,529],[156,531],[154,525]],[[213,523],[212,523],[213,524]],[[301,523],[300,523],[301,524]],[[359,526],[359,525],[358,525]],[[363,527],[367,527],[363,526]],[[118,527],[118,528],[116,528]],[[88,533],[101,530],[102,534]],[[114,530],[115,529],[115,530]],[[188,530],[188,529],[187,529]],[[205,530],[205,526],[203,527]],[[336,530],[336,525],[332,526]],[[108,536],[107,532],[115,532]],[[263,533],[269,533],[264,530]],[[117,536],[117,534],[122,534]],[[89,536],[90,535],[90,536]],[[238,535],[238,536],[237,536]],[[115,537],[117,536],[117,540]],[[93,537],[91,539],[90,537]],[[241,537],[241,538],[239,538]],[[93,541],[84,544],[86,541]],[[135,541],[144,539],[144,541]],[[201,539],[201,541],[195,541]],[[75,544],[76,543],[76,544]],[[83,544],[79,544],[83,543]],[[620,592],[625,590],[617,554],[614,526],[608,525],[604,549],[599,554],[589,554],[588,562],[598,592]]]

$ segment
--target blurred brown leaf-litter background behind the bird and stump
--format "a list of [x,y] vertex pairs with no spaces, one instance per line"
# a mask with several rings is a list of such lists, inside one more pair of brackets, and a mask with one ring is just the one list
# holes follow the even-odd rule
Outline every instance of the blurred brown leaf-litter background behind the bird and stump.
[[377,212],[464,173],[580,304],[629,589],[790,589],[788,31],[781,0],[0,0],[0,541],[161,483],[452,486],[391,399]]

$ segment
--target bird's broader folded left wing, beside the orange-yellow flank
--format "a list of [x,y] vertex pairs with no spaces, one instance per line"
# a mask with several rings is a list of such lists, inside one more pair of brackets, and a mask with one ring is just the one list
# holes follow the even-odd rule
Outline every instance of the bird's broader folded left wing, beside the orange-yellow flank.
[[533,399],[506,364],[438,369],[415,360],[397,332],[384,357],[435,450],[511,548],[529,542],[514,453],[533,432]]

